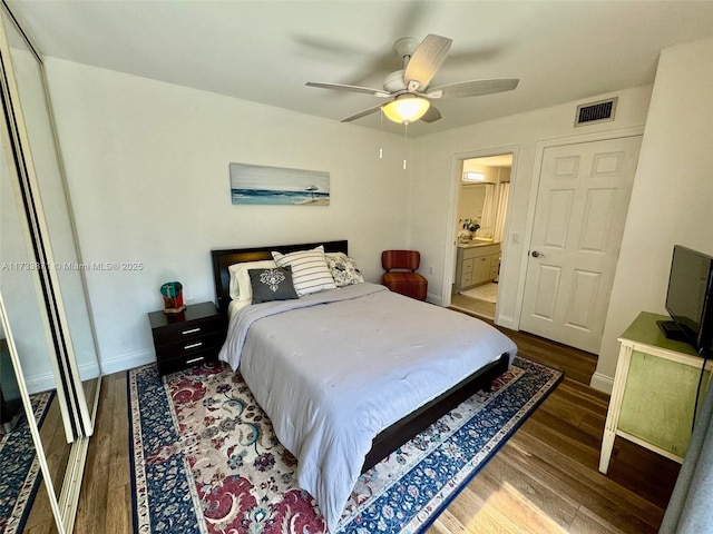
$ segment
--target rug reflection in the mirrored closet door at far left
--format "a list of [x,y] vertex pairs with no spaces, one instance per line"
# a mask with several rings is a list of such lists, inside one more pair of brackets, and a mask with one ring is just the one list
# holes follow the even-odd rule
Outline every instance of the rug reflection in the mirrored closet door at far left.
[[[55,392],[30,396],[35,421],[42,426]],[[32,507],[35,495],[42,479],[40,464],[35,453],[35,443],[25,413],[19,416],[12,431],[2,434],[0,427],[0,532],[22,532]]]

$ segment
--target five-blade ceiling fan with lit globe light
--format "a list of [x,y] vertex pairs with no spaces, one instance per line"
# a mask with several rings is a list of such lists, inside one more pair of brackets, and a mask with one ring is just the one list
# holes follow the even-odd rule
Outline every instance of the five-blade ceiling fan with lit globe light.
[[431,80],[448,57],[451,43],[451,39],[432,33],[426,36],[421,42],[413,37],[399,39],[393,44],[393,49],[399,57],[403,58],[403,69],[388,75],[384,78],[383,89],[319,81],[307,81],[306,85],[390,99],[387,103],[352,115],[342,122],[361,119],[382,110],[390,120],[404,125],[419,119],[424,122],[440,119],[440,111],[430,102],[433,99],[479,97],[511,91],[517,87],[520,81],[518,79],[471,80],[430,87]]

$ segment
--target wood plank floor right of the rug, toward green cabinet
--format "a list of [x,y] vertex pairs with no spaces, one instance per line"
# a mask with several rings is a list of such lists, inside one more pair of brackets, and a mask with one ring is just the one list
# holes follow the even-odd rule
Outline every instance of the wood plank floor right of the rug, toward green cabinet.
[[501,329],[565,379],[428,533],[657,532],[678,464],[617,438],[602,475],[608,395],[586,385],[595,356]]

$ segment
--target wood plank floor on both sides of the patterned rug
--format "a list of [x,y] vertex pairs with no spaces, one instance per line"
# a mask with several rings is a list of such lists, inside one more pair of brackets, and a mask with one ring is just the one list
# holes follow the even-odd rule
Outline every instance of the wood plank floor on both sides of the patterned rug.
[[[655,533],[678,465],[617,438],[597,471],[608,396],[596,358],[505,330],[519,354],[565,379],[429,528],[455,533]],[[126,374],[105,377],[77,514],[78,534],[131,532]]]

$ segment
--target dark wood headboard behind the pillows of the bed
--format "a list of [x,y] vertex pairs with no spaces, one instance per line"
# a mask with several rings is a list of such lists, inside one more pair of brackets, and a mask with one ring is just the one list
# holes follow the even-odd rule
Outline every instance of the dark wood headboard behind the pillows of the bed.
[[272,251],[276,250],[282,254],[294,253],[296,250],[307,250],[310,248],[324,245],[325,253],[344,253],[349,254],[348,241],[322,241],[306,243],[299,245],[276,245],[272,247],[253,247],[253,248],[225,248],[211,250],[211,259],[213,261],[213,280],[215,283],[215,296],[217,306],[221,312],[227,314],[227,305],[231,303],[231,273],[228,267],[233,264],[244,261],[258,261],[261,259],[272,259]]

